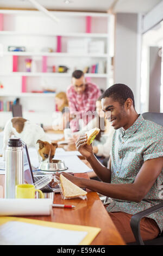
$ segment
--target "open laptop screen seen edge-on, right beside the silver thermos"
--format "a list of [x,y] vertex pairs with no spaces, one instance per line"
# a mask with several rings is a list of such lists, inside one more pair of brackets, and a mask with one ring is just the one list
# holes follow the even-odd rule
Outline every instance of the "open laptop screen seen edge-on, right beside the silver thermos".
[[24,157],[24,183],[34,184],[34,177],[32,172],[32,166],[30,164],[29,154],[26,143],[22,141],[23,157]]

